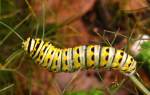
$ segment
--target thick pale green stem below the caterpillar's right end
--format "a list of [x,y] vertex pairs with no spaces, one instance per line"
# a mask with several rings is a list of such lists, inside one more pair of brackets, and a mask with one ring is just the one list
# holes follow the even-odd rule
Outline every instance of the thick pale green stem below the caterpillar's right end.
[[129,78],[145,95],[150,95],[149,90],[136,78],[135,75],[129,76]]

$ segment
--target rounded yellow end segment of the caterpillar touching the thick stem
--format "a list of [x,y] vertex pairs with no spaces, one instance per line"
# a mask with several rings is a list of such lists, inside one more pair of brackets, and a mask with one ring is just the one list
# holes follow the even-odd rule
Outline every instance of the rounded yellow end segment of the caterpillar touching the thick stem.
[[121,71],[127,76],[131,76],[135,73],[135,71],[136,71],[136,61],[133,59],[132,56],[128,55],[126,63],[121,68]]

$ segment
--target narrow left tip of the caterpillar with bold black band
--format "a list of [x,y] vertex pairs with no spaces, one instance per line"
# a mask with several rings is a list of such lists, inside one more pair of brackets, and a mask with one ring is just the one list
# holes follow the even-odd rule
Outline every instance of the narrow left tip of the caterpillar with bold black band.
[[34,43],[35,40],[29,37],[26,41],[22,42],[22,48],[28,53],[31,53],[33,51]]

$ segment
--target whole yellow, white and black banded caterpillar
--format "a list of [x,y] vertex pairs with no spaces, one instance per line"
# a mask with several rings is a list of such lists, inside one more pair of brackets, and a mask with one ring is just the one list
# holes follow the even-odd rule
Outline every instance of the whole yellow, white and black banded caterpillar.
[[83,45],[60,49],[39,38],[28,38],[23,48],[35,63],[52,72],[73,72],[78,69],[116,69],[125,75],[136,70],[136,61],[123,50],[100,45]]

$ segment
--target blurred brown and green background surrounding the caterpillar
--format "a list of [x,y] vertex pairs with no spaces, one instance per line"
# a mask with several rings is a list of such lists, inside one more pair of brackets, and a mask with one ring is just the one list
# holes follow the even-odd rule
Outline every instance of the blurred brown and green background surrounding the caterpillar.
[[[149,0],[0,0],[0,21],[23,39],[60,48],[99,44],[124,49],[150,88]],[[142,95],[118,71],[52,73],[34,64],[22,40],[0,24],[0,95]]]

